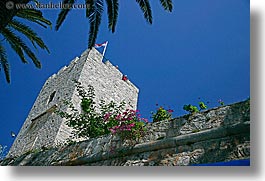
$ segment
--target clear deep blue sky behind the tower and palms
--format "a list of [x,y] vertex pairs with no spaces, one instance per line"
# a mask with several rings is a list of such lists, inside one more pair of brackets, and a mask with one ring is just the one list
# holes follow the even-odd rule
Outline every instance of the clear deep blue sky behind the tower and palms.
[[[109,41],[105,56],[139,87],[143,117],[150,119],[156,104],[180,116],[183,105],[197,105],[198,97],[212,108],[218,99],[230,104],[250,96],[249,0],[178,0],[172,13],[159,0],[150,3],[153,25],[135,1],[120,1],[116,32],[108,31],[105,11],[97,38]],[[55,23],[58,9],[43,12]],[[51,54],[37,51],[39,70],[31,62],[22,64],[8,48],[11,84],[0,72],[0,144],[8,147],[10,131],[19,132],[46,79],[87,47],[85,10],[71,11],[58,32],[31,27]]]

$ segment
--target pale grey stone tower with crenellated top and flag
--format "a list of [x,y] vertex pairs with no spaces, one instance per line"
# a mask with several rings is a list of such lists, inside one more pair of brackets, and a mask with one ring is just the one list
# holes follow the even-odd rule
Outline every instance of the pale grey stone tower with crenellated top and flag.
[[124,81],[122,73],[109,61],[103,63],[102,59],[96,49],[86,50],[80,58],[75,58],[69,66],[48,78],[7,157],[42,146],[54,146],[69,138],[71,128],[54,111],[58,107],[67,110],[63,100],[70,100],[80,110],[81,100],[73,80],[78,80],[85,88],[92,85],[97,103],[99,100],[125,101],[128,108],[136,109],[138,88],[129,80]]

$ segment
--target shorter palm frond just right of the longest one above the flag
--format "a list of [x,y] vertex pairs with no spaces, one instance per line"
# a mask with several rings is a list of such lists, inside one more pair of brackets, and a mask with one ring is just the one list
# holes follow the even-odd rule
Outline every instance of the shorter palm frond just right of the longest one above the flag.
[[119,1],[106,0],[106,3],[108,7],[109,30],[114,33],[118,19]]

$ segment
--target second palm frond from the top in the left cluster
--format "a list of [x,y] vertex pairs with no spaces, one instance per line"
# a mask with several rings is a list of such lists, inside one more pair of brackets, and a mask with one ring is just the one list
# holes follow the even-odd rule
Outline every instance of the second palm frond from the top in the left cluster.
[[9,24],[9,27],[14,28],[15,30],[21,32],[24,34],[35,46],[35,42],[41,49],[47,50],[47,52],[50,52],[48,47],[45,45],[45,43],[42,41],[40,37],[28,26],[24,25],[23,23],[13,19]]

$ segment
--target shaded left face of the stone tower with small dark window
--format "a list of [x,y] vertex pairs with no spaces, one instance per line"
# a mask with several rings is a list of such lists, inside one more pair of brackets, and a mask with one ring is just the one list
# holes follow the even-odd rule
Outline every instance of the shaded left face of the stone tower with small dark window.
[[[8,157],[43,145],[54,144],[63,120],[53,111],[57,107],[66,110],[63,100],[71,100],[75,90],[72,80],[78,79],[80,76],[79,70],[83,67],[84,60],[84,55],[75,58],[69,66],[63,67],[57,74],[53,74],[47,79],[17,135]],[[51,97],[52,95],[53,97]],[[60,134],[65,136],[70,133],[70,129],[60,131]]]

